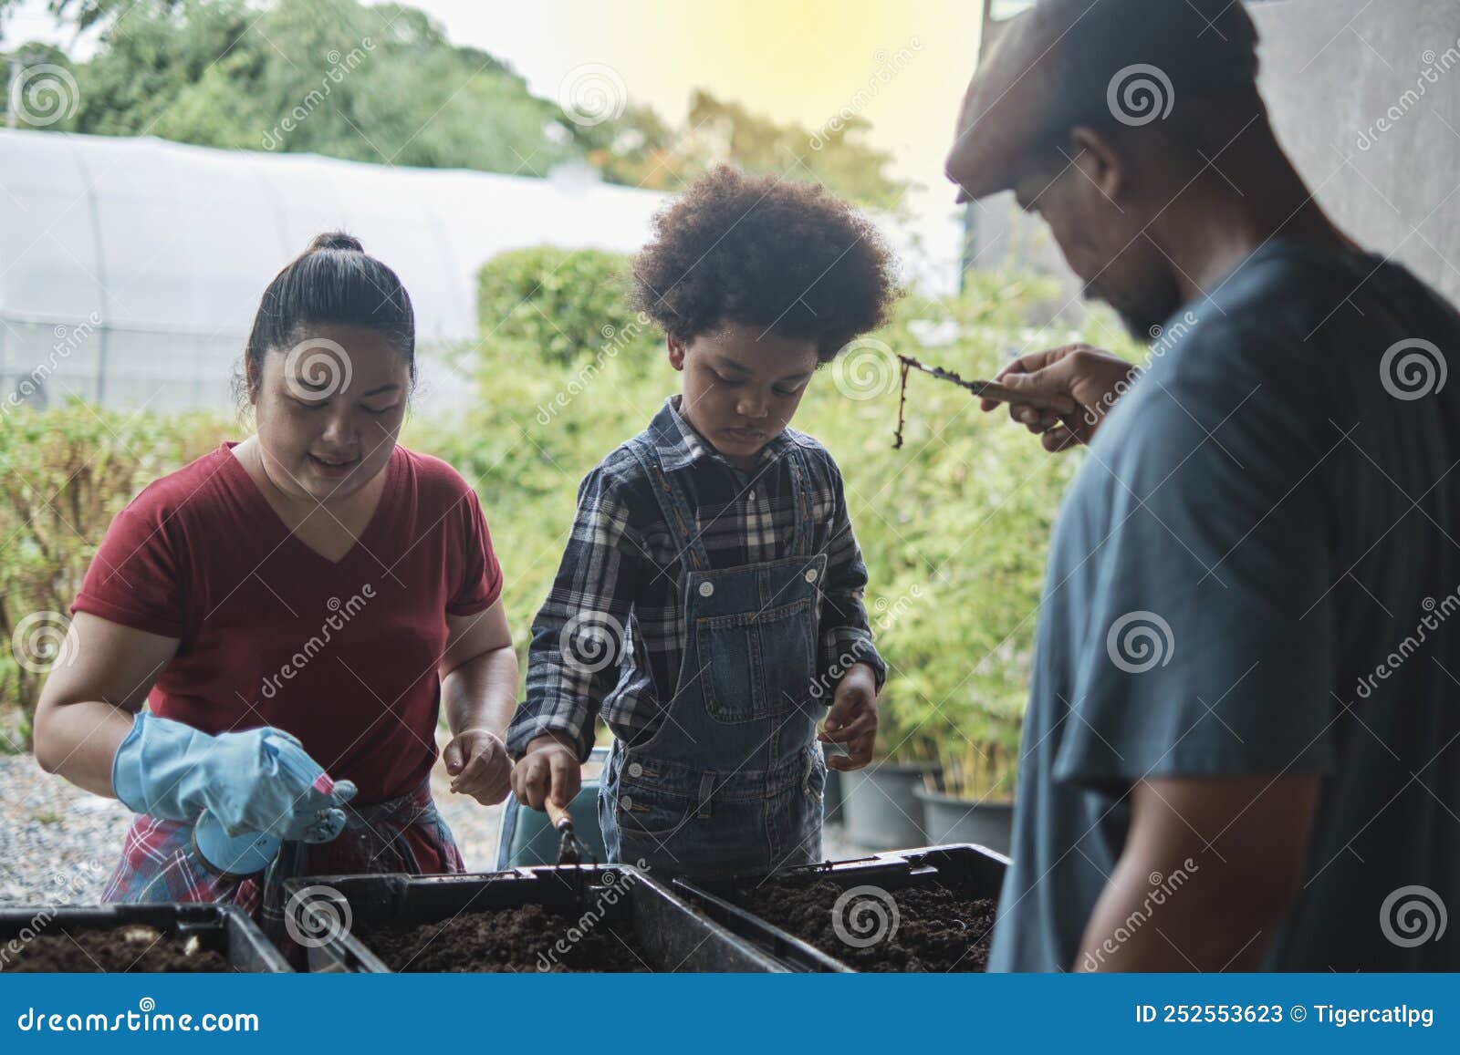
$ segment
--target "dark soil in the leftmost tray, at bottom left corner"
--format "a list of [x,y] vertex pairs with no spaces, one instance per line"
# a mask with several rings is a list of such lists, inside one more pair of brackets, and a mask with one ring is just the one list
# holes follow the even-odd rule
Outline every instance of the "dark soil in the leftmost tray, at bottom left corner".
[[110,930],[79,930],[57,925],[53,930],[60,932],[39,934],[26,943],[16,940],[19,951],[12,951],[9,943],[4,943],[0,972],[226,973],[232,970],[228,957],[201,948],[199,938],[165,935],[155,927],[131,924]]

